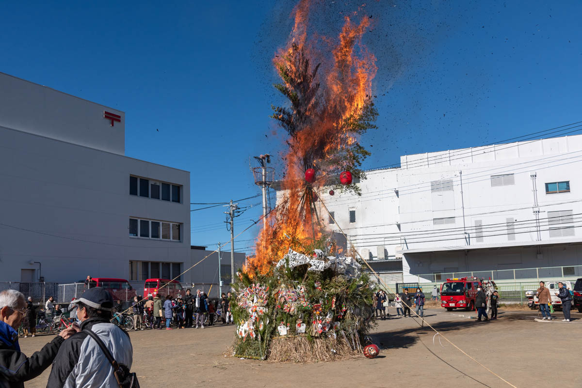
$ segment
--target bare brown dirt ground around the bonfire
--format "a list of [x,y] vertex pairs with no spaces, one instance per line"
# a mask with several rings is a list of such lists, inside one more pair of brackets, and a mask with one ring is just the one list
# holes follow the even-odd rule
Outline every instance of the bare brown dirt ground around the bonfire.
[[[392,311],[391,311],[392,312]],[[537,311],[499,311],[493,322],[476,322],[474,312],[431,309],[425,319],[453,343],[514,386],[559,383],[578,387],[582,314],[573,321],[535,322]],[[132,371],[143,388],[236,387],[509,387],[414,318],[379,321],[372,333],[379,357],[315,364],[281,364],[225,357],[234,326],[131,332]],[[24,353],[40,349],[49,336],[20,339]],[[434,342],[433,342],[434,341]],[[570,371],[564,372],[564,371]],[[45,387],[49,369],[26,383]]]

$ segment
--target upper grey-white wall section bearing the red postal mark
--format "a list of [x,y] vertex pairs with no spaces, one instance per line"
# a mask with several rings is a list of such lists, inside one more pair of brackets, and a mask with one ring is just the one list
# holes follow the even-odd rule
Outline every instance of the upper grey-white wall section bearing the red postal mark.
[[[121,116],[113,123],[103,112]],[[0,73],[0,126],[125,153],[125,113]]]

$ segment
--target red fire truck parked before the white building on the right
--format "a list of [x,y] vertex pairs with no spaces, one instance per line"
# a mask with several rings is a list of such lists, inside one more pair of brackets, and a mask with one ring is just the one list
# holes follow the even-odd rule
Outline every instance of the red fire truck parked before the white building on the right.
[[446,282],[441,285],[441,306],[446,308],[446,311],[453,311],[453,308],[475,310],[477,287],[481,287],[487,296],[496,289],[495,282],[482,278],[446,279]]

